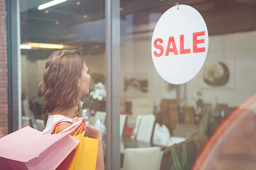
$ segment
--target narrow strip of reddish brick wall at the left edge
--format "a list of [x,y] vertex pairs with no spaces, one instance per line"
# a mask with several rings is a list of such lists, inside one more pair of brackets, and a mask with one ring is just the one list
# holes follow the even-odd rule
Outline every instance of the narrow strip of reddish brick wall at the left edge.
[[6,34],[5,0],[0,0],[0,137],[8,134]]

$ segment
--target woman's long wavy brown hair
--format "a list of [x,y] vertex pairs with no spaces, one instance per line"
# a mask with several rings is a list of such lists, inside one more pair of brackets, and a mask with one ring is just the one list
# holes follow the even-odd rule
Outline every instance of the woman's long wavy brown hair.
[[42,81],[38,90],[45,97],[43,118],[49,113],[61,112],[77,106],[75,116],[80,113],[78,78],[81,77],[84,58],[77,50],[60,50],[51,54],[46,62]]

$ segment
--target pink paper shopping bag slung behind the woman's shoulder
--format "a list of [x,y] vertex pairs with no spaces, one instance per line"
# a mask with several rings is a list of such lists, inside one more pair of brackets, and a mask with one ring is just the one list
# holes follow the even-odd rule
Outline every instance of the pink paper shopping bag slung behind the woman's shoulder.
[[0,139],[0,169],[56,169],[80,142],[25,127]]

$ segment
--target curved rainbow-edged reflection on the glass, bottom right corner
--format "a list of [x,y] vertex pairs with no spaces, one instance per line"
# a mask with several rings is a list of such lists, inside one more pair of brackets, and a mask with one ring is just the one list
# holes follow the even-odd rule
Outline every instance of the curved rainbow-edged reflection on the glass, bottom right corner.
[[193,169],[254,169],[255,107],[256,93],[236,108],[218,127],[200,153]]

